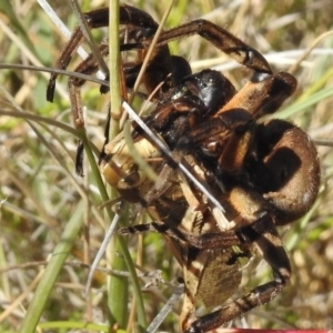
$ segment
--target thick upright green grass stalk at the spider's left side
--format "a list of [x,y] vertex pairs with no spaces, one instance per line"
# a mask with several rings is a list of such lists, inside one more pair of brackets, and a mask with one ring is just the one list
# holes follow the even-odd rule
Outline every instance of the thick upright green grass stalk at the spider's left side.
[[[110,69],[110,133],[112,140],[119,133],[119,120],[121,118],[121,79],[120,79],[120,48],[119,48],[119,1],[110,1],[109,6],[109,69]],[[114,189],[110,189],[110,199],[118,196]],[[122,214],[122,220],[127,220],[127,213]],[[111,220],[110,220],[111,221]],[[107,223],[109,226],[109,222]],[[122,253],[120,258],[118,253]],[[107,259],[110,268],[114,270],[130,271],[134,294],[138,301],[138,322],[141,327],[147,326],[145,313],[143,306],[140,284],[135,274],[132,260],[129,255],[127,244],[123,239],[113,236],[110,246],[107,249]],[[108,279],[108,303],[111,313],[111,320],[120,326],[125,326],[128,320],[128,280],[117,276]],[[112,322],[111,322],[112,323]]]

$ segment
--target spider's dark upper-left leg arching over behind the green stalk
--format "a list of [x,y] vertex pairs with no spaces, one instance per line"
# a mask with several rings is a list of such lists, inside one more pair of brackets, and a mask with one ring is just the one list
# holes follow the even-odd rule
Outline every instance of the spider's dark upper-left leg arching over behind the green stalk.
[[[84,17],[90,29],[98,29],[102,27],[108,27],[109,24],[109,8],[102,8],[94,11],[84,13]],[[147,12],[139,10],[138,8],[131,6],[120,7],[120,24],[127,26],[127,31],[129,36],[129,42],[120,47],[121,51],[128,51],[133,49],[143,50],[141,54],[141,60],[138,62],[135,69],[139,72],[141,63],[145,57],[147,44],[151,41],[154,36],[159,24],[152,19]],[[69,62],[71,61],[75,50],[83,42],[84,38],[80,28],[73,32],[71,39],[64,47],[62,53],[57,60],[57,69],[67,69]],[[145,41],[145,42],[144,42]],[[149,41],[149,42],[147,42]],[[108,54],[108,47],[102,47],[102,56]],[[171,57],[168,46],[157,47],[150,59],[150,64],[148,67],[147,82],[149,85],[148,90],[151,92],[160,82],[164,81],[169,73],[174,73],[176,75],[178,70],[185,63],[184,59],[179,60],[181,57]],[[79,72],[85,72],[84,65],[88,68],[92,67],[93,71],[97,69],[95,60],[90,59],[87,62],[83,61]],[[173,67],[175,68],[173,70]],[[81,70],[82,69],[82,70]],[[87,72],[92,72],[90,69]],[[183,72],[184,74],[190,73],[189,65]],[[108,75],[108,73],[107,73]],[[52,73],[49,80],[47,90],[47,100],[53,101],[56,80],[58,78],[57,73]],[[178,78],[179,80],[179,78]]]

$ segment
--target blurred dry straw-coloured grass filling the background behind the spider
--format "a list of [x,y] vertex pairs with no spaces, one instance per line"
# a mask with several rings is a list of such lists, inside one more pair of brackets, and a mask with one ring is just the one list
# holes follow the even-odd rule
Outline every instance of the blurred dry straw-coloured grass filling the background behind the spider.
[[[70,6],[64,1],[52,2],[56,12],[72,29],[75,18]],[[151,2],[133,0],[130,4],[142,8],[159,21],[164,8],[161,3]],[[52,67],[64,44],[64,38],[36,1],[16,0],[12,3],[12,7],[8,4],[12,11],[0,4],[0,62]],[[82,6],[90,10],[103,3],[85,1]],[[167,26],[174,27],[199,17],[228,28],[268,54],[279,71],[295,65],[304,51],[332,29],[333,7],[329,0],[284,0],[279,6],[262,0],[179,1]],[[101,38],[99,33],[95,34]],[[300,124],[314,140],[325,139],[331,143],[332,44],[333,34],[329,34],[314,47],[310,56],[297,63],[294,74],[299,79],[299,89],[283,108],[287,109],[291,121]],[[223,69],[238,88],[248,75],[244,70],[228,70],[229,59],[200,38],[192,37],[172,43],[172,50],[190,60],[195,70],[206,67]],[[79,61],[75,59],[74,63]],[[70,67],[73,69],[74,64]],[[17,332],[34,286],[29,292],[27,290],[39,276],[44,261],[53,253],[67,223],[73,216],[81,221],[78,223],[90,225],[89,244],[87,239],[83,240],[83,234],[77,239],[43,309],[41,322],[44,326],[39,332],[54,332],[50,324],[52,321],[68,323],[68,326],[56,325],[59,332],[68,332],[73,323],[84,323],[85,320],[105,323],[108,320],[105,273],[95,274],[91,297],[87,297],[83,286],[88,270],[73,264],[89,263],[103,239],[104,216],[97,210],[101,203],[100,194],[88,165],[83,179],[73,174],[75,140],[63,128],[63,124],[72,127],[67,78],[61,78],[61,83],[58,83],[57,99],[52,104],[46,101],[47,78],[48,74],[34,71],[0,70],[1,332]],[[88,135],[101,148],[108,97],[100,97],[99,87],[87,83],[83,100],[88,108]],[[305,104],[299,108],[301,102]],[[27,114],[32,117],[30,122]],[[280,114],[283,115],[283,110]],[[52,119],[54,123],[37,121],[33,118],[36,115]],[[236,320],[233,325],[260,329],[333,327],[332,148],[319,145],[319,153],[322,188],[317,203],[302,221],[284,231],[284,242],[293,265],[292,281],[276,300]],[[129,239],[128,244],[134,251],[135,240]],[[164,251],[159,235],[148,234],[144,238],[142,253],[145,270],[163,270],[165,280],[175,280],[179,271],[171,254]],[[37,262],[41,262],[40,265]],[[105,263],[101,262],[103,265]],[[243,291],[270,278],[270,272],[262,264],[256,268],[252,265],[249,274],[245,274]],[[145,293],[149,322],[169,294],[170,290],[163,285]],[[11,307],[16,301],[19,301],[17,306]],[[176,315],[169,315],[161,330],[175,332],[175,327]],[[91,330],[102,329],[94,326]]]

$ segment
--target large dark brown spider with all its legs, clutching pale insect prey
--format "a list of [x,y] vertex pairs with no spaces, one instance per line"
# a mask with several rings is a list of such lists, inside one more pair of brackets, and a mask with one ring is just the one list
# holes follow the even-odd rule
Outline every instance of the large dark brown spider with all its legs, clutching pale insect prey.
[[[108,26],[109,9],[89,12],[85,18],[91,29]],[[143,50],[138,61],[123,65],[127,87],[131,88],[158,24],[148,13],[129,6],[120,7],[120,21],[127,27],[127,42],[121,44],[121,51]],[[190,74],[184,59],[170,56],[169,41],[195,33],[253,70],[240,91],[219,72]],[[82,39],[80,29],[75,30],[57,62],[58,68],[68,65]],[[100,51],[105,56],[108,47],[101,44]],[[88,74],[97,70],[92,56],[75,69]],[[53,99],[56,79],[53,74],[48,100]],[[132,131],[143,159],[160,158],[160,162],[150,162],[160,174],[158,182],[147,179],[121,137],[120,142],[104,147],[101,170],[125,200],[139,202],[154,220],[121,229],[120,233],[162,233],[183,268],[182,332],[209,332],[268,303],[289,281],[291,266],[276,226],[301,218],[314,203],[320,184],[317,153],[296,125],[282,120],[261,121],[294,92],[295,78],[286,72],[273,73],[260,52],[223,28],[196,20],[163,31],[143,83],[151,92],[162,81],[158,105],[144,121],[165,141],[173,159],[164,157],[137,125]],[[78,79],[69,82],[75,123],[81,124],[77,97],[83,83]],[[101,91],[105,92],[105,88],[101,87]],[[186,163],[219,199],[226,224],[222,225],[221,212],[216,214],[205,195],[182,178],[176,169],[180,162]],[[271,265],[273,280],[220,310],[196,317],[196,299],[216,306],[234,294],[241,280],[238,259],[255,251]]]

